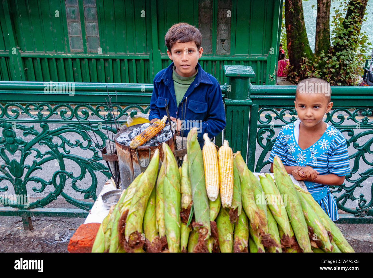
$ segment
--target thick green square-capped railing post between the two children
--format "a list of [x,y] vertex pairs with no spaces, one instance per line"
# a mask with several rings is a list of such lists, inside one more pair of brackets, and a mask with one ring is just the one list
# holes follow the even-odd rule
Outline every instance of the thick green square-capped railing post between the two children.
[[233,152],[241,151],[242,157],[246,160],[250,106],[253,104],[248,91],[250,78],[255,77],[255,72],[250,66],[225,65],[224,73],[228,77],[224,100],[226,114],[224,137],[229,141]]

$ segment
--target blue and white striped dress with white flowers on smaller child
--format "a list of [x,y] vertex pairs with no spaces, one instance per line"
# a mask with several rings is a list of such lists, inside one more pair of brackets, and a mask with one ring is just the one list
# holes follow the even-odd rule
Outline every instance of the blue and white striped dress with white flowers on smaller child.
[[[295,138],[295,127],[300,121],[285,125],[280,130],[275,145],[269,156],[278,155],[284,165],[310,166],[320,173],[345,176],[350,173],[346,139],[338,129],[327,125],[321,138],[307,149],[301,149],[298,138]],[[338,208],[334,196],[330,193],[329,185],[304,181],[312,197],[333,221],[338,220]]]

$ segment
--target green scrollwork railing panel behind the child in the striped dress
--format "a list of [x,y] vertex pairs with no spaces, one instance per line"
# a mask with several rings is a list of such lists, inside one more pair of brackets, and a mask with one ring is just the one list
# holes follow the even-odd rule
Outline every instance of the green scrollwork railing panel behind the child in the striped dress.
[[[279,110],[279,111],[278,111]],[[294,108],[260,107],[258,113],[257,144],[263,149],[258,157],[255,171],[270,164],[269,153],[275,143],[277,133],[283,125],[295,122],[297,112]],[[339,129],[347,140],[347,147],[352,160],[351,173],[346,175],[346,182],[331,187],[337,196],[338,208],[355,216],[373,216],[373,109],[336,108],[327,115],[325,122]],[[277,131],[277,132],[276,132]],[[252,146],[251,146],[252,147]],[[370,155],[370,158],[367,157]],[[365,164],[365,165],[362,165]],[[360,171],[359,171],[360,168]],[[364,168],[364,169],[363,169]],[[363,170],[361,170],[363,169]],[[370,200],[363,193],[355,196],[355,190],[370,187]],[[355,208],[345,206],[351,200]]]

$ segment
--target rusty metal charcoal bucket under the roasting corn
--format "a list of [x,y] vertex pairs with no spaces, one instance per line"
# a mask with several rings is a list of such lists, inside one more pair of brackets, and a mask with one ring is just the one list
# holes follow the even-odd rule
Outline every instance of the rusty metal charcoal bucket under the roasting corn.
[[[129,146],[123,145],[117,142],[117,138],[127,131],[134,130],[135,128],[140,128],[142,123],[138,125],[133,125],[125,127],[124,129],[117,132],[115,135],[115,145],[118,156],[120,181],[122,182],[122,188],[127,188],[128,185],[137,177],[141,172],[144,172],[148,167],[150,159],[153,157],[156,149],[159,149],[159,168],[163,161],[163,149],[162,143],[157,146],[138,146],[136,149],[131,149]],[[175,152],[175,146],[173,144],[172,138],[167,140],[166,143],[170,146],[172,152]]]

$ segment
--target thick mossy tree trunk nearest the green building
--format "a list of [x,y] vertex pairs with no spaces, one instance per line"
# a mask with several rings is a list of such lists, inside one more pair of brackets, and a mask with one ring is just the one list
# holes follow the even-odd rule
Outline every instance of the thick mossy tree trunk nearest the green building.
[[302,0],[285,1],[285,25],[288,57],[293,71],[300,70],[302,57],[313,59],[305,30]]

